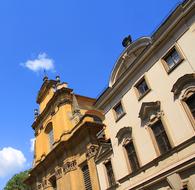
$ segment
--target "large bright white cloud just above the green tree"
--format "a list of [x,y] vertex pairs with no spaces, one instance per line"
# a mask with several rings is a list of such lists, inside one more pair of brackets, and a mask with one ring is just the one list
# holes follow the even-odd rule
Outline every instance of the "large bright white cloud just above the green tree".
[[24,154],[12,147],[0,150],[0,177],[5,177],[25,167],[26,158]]

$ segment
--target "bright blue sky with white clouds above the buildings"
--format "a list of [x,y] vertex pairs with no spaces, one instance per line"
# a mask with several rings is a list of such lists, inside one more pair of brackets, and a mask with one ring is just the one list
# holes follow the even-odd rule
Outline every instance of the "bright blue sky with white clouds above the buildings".
[[151,35],[178,2],[0,1],[0,189],[32,163],[40,66],[47,66],[50,78],[60,75],[76,93],[97,97],[123,50],[122,39]]

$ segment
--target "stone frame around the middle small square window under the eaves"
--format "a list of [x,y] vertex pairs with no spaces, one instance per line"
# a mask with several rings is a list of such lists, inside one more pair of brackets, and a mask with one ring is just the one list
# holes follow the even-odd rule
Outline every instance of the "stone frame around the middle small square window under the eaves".
[[[145,81],[145,83],[146,83],[148,89],[147,89],[143,94],[141,94],[140,91],[139,91],[138,86],[139,86],[142,82],[144,82],[144,81]],[[134,85],[134,88],[135,88],[135,93],[136,93],[136,96],[137,96],[137,98],[138,98],[138,101],[140,101],[144,96],[146,96],[146,95],[151,91],[151,87],[150,87],[149,82],[148,82],[148,80],[147,80],[147,77],[146,77],[145,75],[142,76],[142,77],[136,82],[136,84]]]

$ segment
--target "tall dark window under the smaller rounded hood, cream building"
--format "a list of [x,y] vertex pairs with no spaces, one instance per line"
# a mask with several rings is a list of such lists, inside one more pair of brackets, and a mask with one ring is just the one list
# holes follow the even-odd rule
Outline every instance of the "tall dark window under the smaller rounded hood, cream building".
[[133,145],[133,141],[125,145],[125,149],[127,152],[127,156],[129,159],[129,164],[131,167],[131,171],[134,172],[140,168],[139,161],[135,152],[135,147]]

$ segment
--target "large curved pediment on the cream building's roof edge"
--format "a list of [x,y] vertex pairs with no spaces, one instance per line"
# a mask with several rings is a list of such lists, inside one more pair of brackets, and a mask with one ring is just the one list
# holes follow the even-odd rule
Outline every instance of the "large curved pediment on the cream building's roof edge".
[[127,68],[133,63],[133,61],[139,57],[142,51],[151,43],[150,37],[142,37],[131,43],[117,60],[110,77],[109,86],[120,78],[120,76],[127,70]]

